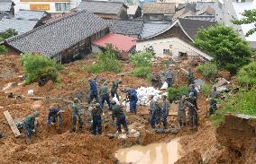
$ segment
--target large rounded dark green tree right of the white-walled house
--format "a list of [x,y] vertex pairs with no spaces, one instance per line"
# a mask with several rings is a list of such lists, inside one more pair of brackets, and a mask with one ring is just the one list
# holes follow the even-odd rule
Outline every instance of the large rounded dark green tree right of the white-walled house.
[[195,45],[215,58],[216,65],[230,73],[236,73],[243,65],[250,62],[251,47],[231,27],[216,25],[199,30]]

